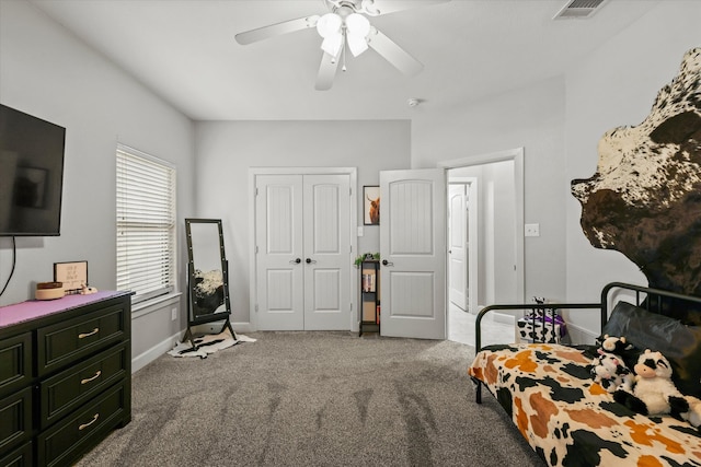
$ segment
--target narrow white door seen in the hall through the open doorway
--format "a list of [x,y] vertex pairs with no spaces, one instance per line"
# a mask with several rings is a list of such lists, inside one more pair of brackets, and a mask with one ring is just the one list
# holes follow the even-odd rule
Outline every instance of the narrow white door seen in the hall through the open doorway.
[[448,186],[448,297],[468,310],[468,210],[467,186]]

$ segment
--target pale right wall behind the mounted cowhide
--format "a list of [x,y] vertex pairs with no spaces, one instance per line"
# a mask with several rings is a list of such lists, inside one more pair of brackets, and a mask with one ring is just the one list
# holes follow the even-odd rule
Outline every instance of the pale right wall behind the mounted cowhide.
[[[683,54],[701,46],[701,2],[664,1],[567,73],[565,183],[594,175],[597,143],[609,129],[643,121],[657,92],[677,75]],[[646,285],[621,253],[594,248],[579,226],[579,203],[566,199],[567,299],[589,301],[611,281]],[[595,319],[571,322],[595,332]]]

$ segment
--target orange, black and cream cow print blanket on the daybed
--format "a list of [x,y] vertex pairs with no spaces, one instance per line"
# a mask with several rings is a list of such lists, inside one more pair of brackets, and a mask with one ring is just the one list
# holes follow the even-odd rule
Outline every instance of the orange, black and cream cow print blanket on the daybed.
[[491,346],[468,373],[550,466],[701,466],[701,433],[670,416],[645,417],[613,401],[591,378],[593,350]]

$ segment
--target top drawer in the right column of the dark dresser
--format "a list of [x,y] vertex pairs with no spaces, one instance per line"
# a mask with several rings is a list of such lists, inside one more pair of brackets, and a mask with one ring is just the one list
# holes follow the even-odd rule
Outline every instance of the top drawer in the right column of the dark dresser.
[[44,376],[125,339],[128,316],[122,305],[104,307],[37,329],[37,373]]

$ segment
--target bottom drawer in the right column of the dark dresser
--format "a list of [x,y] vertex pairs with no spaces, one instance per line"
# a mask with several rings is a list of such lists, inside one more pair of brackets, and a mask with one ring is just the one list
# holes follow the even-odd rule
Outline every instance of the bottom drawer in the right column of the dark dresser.
[[70,465],[78,455],[122,424],[130,409],[125,383],[108,388],[84,408],[66,417],[36,437],[41,466]]

